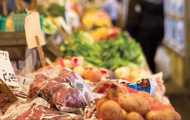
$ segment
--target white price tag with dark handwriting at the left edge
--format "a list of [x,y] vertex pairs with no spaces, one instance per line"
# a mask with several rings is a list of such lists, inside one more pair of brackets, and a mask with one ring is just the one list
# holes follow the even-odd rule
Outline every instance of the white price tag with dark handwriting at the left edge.
[[9,59],[9,53],[0,50],[0,79],[2,79],[8,86],[18,87],[14,69]]

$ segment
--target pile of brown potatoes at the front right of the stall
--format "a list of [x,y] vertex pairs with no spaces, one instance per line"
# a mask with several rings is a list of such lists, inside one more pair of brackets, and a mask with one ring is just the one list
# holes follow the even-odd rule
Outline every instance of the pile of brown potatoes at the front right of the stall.
[[148,93],[127,94],[110,89],[96,102],[100,120],[181,120],[171,105],[164,105]]

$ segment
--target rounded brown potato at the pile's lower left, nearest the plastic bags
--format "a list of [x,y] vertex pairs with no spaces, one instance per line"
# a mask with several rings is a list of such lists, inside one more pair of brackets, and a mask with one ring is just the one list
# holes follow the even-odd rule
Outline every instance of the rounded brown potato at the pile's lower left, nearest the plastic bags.
[[122,108],[113,100],[107,100],[99,108],[98,117],[103,120],[124,120]]

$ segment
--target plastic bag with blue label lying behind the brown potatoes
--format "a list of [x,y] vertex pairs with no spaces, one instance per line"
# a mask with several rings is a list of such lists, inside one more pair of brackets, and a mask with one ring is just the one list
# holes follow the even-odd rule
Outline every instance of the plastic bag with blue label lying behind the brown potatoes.
[[105,93],[113,86],[117,86],[121,91],[126,93],[146,92],[164,104],[170,104],[165,95],[165,86],[162,80],[162,73],[142,78],[137,82],[130,83],[126,80],[107,80],[97,84],[95,91]]

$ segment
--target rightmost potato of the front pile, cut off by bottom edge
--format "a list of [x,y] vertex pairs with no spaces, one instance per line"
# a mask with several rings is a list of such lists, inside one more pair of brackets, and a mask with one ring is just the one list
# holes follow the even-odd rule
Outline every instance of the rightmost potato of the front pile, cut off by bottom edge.
[[171,109],[162,111],[150,111],[146,115],[147,120],[181,120],[181,116]]

